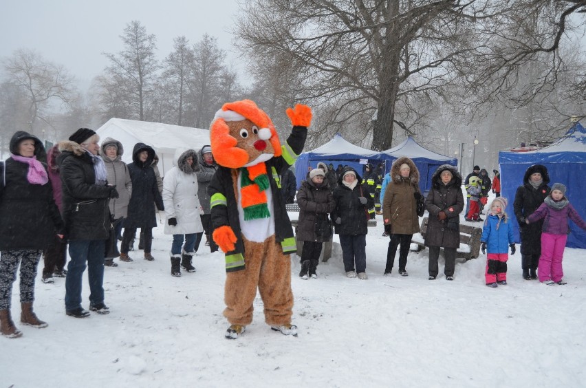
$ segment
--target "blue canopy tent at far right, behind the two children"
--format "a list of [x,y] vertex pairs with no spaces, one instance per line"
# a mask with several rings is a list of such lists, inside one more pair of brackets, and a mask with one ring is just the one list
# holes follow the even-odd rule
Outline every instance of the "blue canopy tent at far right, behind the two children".
[[[525,171],[532,164],[543,164],[550,175],[550,186],[562,183],[567,186],[569,202],[580,217],[586,218],[586,130],[576,122],[566,135],[550,145],[530,152],[499,152],[501,169],[501,194],[509,200],[507,211],[513,214],[514,195],[523,182]],[[511,217],[515,241],[519,242],[519,225]],[[569,222],[570,234],[566,246],[586,248],[586,232]]]

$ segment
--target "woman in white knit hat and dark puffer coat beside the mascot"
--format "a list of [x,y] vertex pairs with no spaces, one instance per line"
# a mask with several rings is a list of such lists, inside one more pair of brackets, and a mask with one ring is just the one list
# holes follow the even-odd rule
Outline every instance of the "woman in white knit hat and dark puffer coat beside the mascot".
[[297,193],[299,205],[299,222],[296,239],[303,241],[301,253],[301,279],[317,278],[316,268],[324,241],[332,237],[332,226],[328,213],[334,211],[336,203],[325,180],[322,169],[313,169],[310,179],[301,182]]

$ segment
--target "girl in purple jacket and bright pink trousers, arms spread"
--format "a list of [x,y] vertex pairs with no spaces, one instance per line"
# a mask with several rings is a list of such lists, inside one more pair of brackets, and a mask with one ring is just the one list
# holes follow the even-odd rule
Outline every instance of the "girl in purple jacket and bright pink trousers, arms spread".
[[539,281],[546,285],[566,284],[563,278],[562,259],[567,239],[567,219],[586,230],[586,222],[565,197],[566,188],[561,183],[554,183],[550,195],[537,210],[527,217],[527,224],[544,219],[541,232],[541,257],[537,274]]

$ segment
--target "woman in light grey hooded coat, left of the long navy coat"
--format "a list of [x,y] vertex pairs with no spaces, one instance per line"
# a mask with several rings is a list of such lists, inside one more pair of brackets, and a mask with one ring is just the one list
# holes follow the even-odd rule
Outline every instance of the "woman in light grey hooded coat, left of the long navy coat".
[[[130,171],[126,163],[122,162],[124,147],[122,143],[113,138],[102,140],[100,155],[106,166],[108,173],[108,183],[116,185],[118,198],[112,198],[108,204],[112,224],[116,226],[116,235],[120,235],[122,230],[122,220],[128,215],[128,204],[132,195],[132,180]],[[117,267],[114,259],[105,259],[104,265],[108,267]]]

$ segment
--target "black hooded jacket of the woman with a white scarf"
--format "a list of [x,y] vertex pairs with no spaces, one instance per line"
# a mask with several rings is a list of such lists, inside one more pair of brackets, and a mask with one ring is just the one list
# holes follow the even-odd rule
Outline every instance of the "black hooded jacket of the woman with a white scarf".
[[[343,184],[344,174],[347,171],[354,171],[358,184],[354,189],[350,189]],[[367,204],[363,205],[358,197],[366,197]],[[334,190],[334,202],[336,207],[332,212],[334,221],[334,231],[338,235],[366,235],[368,233],[368,215],[369,208],[374,206],[374,200],[369,195],[367,184],[362,184],[362,177],[358,175],[355,169],[345,167],[342,175],[338,179],[338,187]],[[340,217],[341,223],[336,224],[336,218]]]

